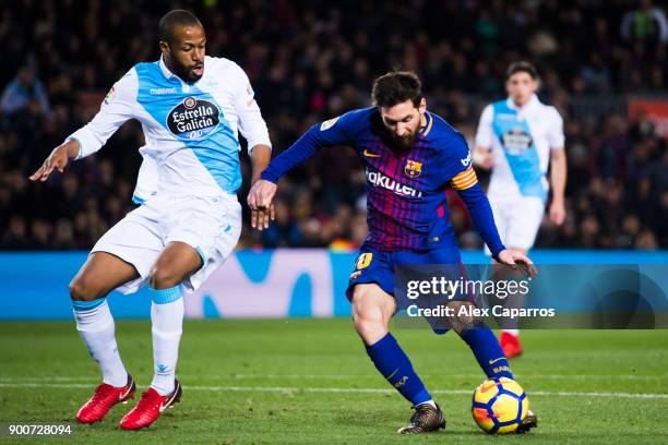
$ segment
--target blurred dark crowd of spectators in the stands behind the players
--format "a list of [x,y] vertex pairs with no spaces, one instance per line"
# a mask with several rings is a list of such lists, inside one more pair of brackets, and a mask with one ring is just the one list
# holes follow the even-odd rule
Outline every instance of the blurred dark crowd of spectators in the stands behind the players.
[[[530,60],[540,98],[564,118],[569,157],[566,221],[546,220],[537,246],[668,248],[666,140],[618,110],[574,116],[581,97],[666,91],[666,11],[649,0],[16,0],[0,8],[0,249],[90,249],[134,207],[136,122],[64,175],[27,177],[126,71],[157,60],[157,22],[177,7],[202,20],[208,55],[247,71],[275,153],[314,122],[368,106],[372,80],[393,68],[415,70],[428,108],[470,142],[482,107],[505,96],[508,64]],[[282,182],[270,230],[247,224],[241,245],[355,249],[363,181],[353,151],[322,151]],[[456,193],[450,201],[461,243],[479,248]]]

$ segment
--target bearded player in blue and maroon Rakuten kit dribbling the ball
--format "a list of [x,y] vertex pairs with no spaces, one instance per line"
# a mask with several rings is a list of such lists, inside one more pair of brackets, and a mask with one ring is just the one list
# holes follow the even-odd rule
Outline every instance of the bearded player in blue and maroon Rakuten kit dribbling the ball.
[[[450,222],[445,190],[458,190],[493,257],[503,264],[533,266],[523,254],[506,250],[499,239],[492,212],[470,165],[463,135],[439,116],[427,111],[421,83],[410,72],[393,72],[375,80],[375,107],[349,111],[313,125],[275,158],[248,196],[258,212],[271,208],[278,179],[321,147],[348,145],[366,169],[369,236],[350,275],[347,297],[355,328],[378,371],[407,400],[415,413],[402,434],[445,428],[439,406],[422,384],[408,356],[389,332],[397,310],[394,266],[397,264],[461,264]],[[258,221],[252,221],[253,227]],[[267,227],[269,221],[260,225]],[[460,296],[464,297],[464,296]],[[466,298],[449,306],[473,306]],[[480,321],[461,316],[452,326],[473,350],[488,377],[513,378],[493,333]],[[520,431],[536,424],[532,413]]]

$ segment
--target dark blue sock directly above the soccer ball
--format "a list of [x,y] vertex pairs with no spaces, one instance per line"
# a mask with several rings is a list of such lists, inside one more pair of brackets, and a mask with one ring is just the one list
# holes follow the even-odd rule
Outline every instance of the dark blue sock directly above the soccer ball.
[[[508,377],[513,378],[508,359],[499,345],[494,333],[482,322],[474,322],[473,327],[464,329],[461,334],[466,341],[476,360],[488,378]],[[514,378],[513,378],[514,380]]]

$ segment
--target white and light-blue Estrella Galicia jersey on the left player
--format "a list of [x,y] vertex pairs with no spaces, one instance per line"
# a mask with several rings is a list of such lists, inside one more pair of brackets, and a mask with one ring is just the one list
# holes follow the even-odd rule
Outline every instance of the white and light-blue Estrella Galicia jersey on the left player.
[[140,121],[146,141],[135,190],[143,200],[154,191],[234,194],[241,184],[238,131],[249,151],[271,147],[248,76],[224,58],[206,57],[204,74],[193,84],[171,73],[162,58],[138,63],[114,85],[95,118],[68,140],[80,142],[79,157],[88,156],[129,119]]

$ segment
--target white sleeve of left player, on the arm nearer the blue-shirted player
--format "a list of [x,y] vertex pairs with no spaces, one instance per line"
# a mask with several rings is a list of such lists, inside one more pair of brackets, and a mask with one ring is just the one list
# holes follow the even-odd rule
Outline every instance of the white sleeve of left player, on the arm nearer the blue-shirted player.
[[246,72],[238,68],[237,87],[235,91],[235,108],[239,115],[239,132],[248,141],[248,153],[258,145],[271,148],[266,122],[262,118],[260,106],[255,100],[255,93]]

